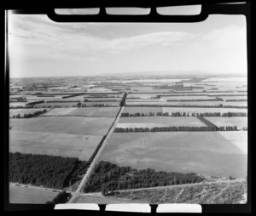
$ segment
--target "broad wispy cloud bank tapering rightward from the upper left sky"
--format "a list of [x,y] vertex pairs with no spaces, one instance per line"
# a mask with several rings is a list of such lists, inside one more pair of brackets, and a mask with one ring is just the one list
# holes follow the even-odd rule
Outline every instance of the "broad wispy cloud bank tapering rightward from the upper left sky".
[[[106,38],[91,34],[91,24],[55,23],[46,16],[13,17],[9,44],[11,58],[96,60],[104,54],[121,54],[151,45],[172,46],[193,37],[188,32],[153,32],[132,37]],[[114,32],[113,32],[114,34]]]

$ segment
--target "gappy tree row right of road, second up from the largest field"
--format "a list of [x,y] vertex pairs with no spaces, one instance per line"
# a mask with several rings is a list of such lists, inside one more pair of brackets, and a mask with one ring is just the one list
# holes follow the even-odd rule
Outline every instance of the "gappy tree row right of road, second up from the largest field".
[[156,112],[153,111],[150,112],[135,112],[135,113],[129,113],[129,112],[122,112],[120,117],[154,117],[154,116],[160,116],[160,117],[247,117],[246,112]]

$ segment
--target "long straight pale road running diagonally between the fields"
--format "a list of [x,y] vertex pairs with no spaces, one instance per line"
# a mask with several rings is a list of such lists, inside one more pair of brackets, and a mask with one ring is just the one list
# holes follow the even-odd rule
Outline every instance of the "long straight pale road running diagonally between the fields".
[[106,138],[104,139],[101,148],[99,149],[99,151],[97,152],[96,156],[94,157],[93,161],[90,163],[90,167],[87,169],[86,173],[84,174],[83,179],[81,180],[77,190],[75,192],[73,192],[73,196],[72,198],[67,202],[67,203],[73,203],[76,201],[76,199],[78,198],[78,196],[80,195],[80,190],[82,189],[82,187],[84,186],[85,182],[87,179],[89,179],[90,177],[90,173],[92,172],[93,168],[96,165],[96,162],[99,158],[99,156],[102,153],[102,150],[104,149],[105,145],[108,143],[108,139],[110,137],[110,135],[113,133],[113,129],[115,128],[115,125],[117,124],[117,122],[119,122],[119,117],[122,113],[122,111],[124,110],[125,106],[121,106],[120,110],[119,110],[119,114],[117,115],[117,117],[115,118],[111,128],[108,130],[108,134],[106,135]]

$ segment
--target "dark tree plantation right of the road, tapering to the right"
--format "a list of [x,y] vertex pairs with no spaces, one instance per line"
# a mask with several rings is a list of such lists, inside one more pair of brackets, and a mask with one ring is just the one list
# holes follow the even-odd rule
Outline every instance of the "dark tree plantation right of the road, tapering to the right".
[[119,167],[111,162],[98,162],[84,192],[100,192],[107,195],[113,190],[137,189],[166,185],[192,184],[204,179],[195,173],[167,173],[154,169]]

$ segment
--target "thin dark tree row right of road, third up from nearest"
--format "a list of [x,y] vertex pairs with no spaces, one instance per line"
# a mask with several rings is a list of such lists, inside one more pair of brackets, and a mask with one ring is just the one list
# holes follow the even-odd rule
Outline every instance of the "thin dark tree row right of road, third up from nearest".
[[134,106],[134,107],[195,107],[195,108],[201,108],[201,107],[206,107],[206,108],[237,108],[237,109],[245,109],[247,106],[245,105],[127,105],[125,106]]

